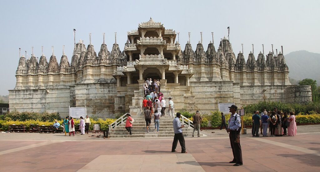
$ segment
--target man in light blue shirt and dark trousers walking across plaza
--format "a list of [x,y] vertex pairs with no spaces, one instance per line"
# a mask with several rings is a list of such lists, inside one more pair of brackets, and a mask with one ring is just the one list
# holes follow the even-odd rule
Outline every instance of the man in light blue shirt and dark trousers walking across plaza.
[[181,125],[180,117],[181,117],[181,114],[178,112],[176,117],[172,121],[173,130],[174,130],[174,138],[173,138],[173,142],[172,142],[171,152],[178,152],[178,151],[176,151],[176,148],[177,148],[177,144],[178,144],[178,140],[179,140],[179,143],[181,146],[181,153],[188,153],[188,152],[186,152],[186,144],[185,144],[184,137],[182,134],[182,128],[184,127],[184,125]]

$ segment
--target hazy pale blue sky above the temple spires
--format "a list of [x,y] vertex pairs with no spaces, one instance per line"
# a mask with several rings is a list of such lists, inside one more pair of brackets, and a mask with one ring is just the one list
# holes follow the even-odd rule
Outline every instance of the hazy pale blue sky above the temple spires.
[[[297,50],[320,53],[320,1],[15,1],[0,2],[0,95],[8,95],[15,87],[15,71],[19,61],[19,48],[40,58],[41,46],[49,61],[51,46],[58,62],[62,56],[62,45],[69,62],[76,42],[81,38],[92,44],[99,52],[102,33],[106,33],[106,44],[111,51],[117,32],[117,43],[121,50],[127,40],[126,33],[138,28],[138,23],[153,18],[166,29],[180,32],[180,45],[184,49],[191,32],[193,50],[203,32],[204,49],[212,40],[219,44],[220,38],[228,36],[237,54],[244,44],[247,58],[254,44],[257,58],[265,45],[265,53],[284,47],[284,54]],[[303,57],[301,57],[303,58]],[[286,59],[290,60],[290,59]],[[289,69],[290,70],[290,69]]]

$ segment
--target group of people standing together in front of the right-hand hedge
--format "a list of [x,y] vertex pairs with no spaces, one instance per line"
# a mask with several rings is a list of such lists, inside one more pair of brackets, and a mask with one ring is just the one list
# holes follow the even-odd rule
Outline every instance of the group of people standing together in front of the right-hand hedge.
[[[252,136],[253,137],[267,137],[269,127],[270,137],[276,136],[295,136],[297,134],[297,125],[295,113],[278,111],[274,108],[273,111],[266,111],[259,113],[254,111],[252,115]],[[259,135],[260,128],[260,135]]]

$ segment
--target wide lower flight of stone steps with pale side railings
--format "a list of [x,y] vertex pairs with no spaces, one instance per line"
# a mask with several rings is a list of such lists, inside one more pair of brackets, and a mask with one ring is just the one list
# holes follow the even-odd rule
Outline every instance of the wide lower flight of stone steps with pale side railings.
[[[132,124],[132,135],[129,135],[129,132],[125,129],[125,120],[123,123],[119,124],[118,126],[114,127],[113,131],[109,130],[109,137],[111,138],[124,138],[124,137],[173,137],[174,131],[172,126],[172,117],[164,116],[160,118],[160,127],[159,132],[155,129],[155,125],[153,122],[153,118],[151,119],[151,125],[149,132],[146,129],[146,121],[144,116],[132,116],[135,120]],[[185,127],[182,128],[183,135],[192,136],[193,127],[188,126],[185,123]],[[202,136],[202,134],[200,133]],[[195,136],[197,136],[197,131],[195,132]]]

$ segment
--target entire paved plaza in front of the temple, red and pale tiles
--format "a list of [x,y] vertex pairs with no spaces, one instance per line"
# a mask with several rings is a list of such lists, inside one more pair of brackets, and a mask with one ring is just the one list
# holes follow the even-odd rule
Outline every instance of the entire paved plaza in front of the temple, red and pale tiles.
[[[319,171],[320,125],[297,126],[294,137],[241,135],[243,166],[234,167],[225,130],[185,137],[188,153],[171,152],[173,138],[102,139],[100,135],[0,133],[0,171]],[[214,133],[212,133],[214,132]]]

